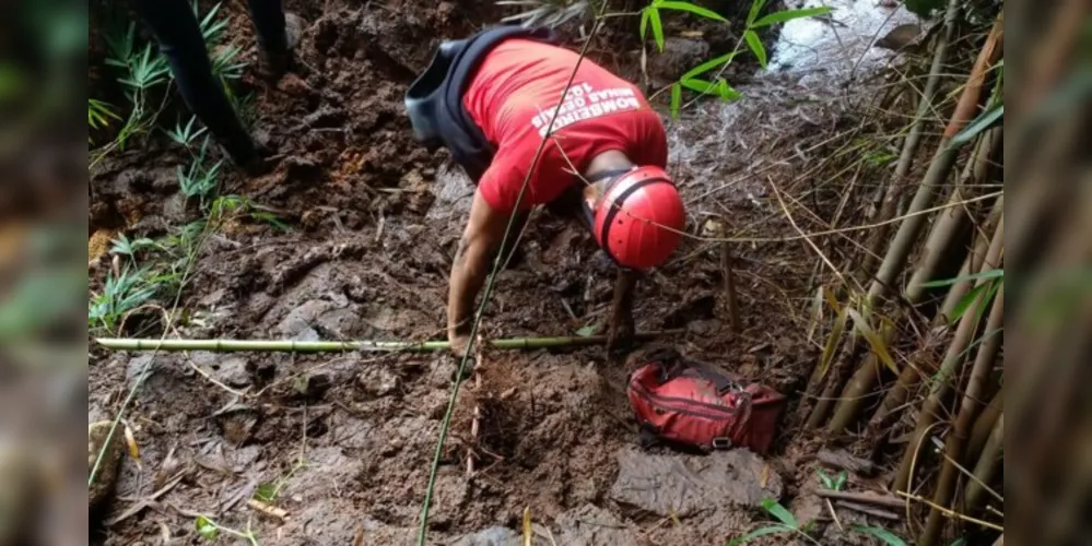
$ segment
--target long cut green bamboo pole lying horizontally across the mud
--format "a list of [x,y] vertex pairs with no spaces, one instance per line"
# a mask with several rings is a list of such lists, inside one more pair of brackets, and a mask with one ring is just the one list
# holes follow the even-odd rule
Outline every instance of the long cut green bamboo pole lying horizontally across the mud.
[[[651,340],[683,335],[685,330],[664,330],[641,332],[634,334],[636,340]],[[433,353],[450,348],[447,341],[406,342],[406,341],[268,341],[268,340],[153,340],[153,339],[118,339],[96,337],[99,345],[116,351],[212,351],[218,353],[249,351],[257,353],[338,353],[345,351],[363,351],[375,353]],[[537,349],[551,347],[579,347],[588,345],[606,345],[606,335],[589,335],[587,337],[513,337],[505,340],[489,340],[489,345],[496,349]]]

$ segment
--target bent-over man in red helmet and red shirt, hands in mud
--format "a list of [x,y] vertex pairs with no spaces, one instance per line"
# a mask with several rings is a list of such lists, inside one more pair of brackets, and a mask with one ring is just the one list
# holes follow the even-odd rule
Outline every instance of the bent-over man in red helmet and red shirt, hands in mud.
[[551,38],[501,27],[446,43],[407,95],[418,139],[449,147],[477,185],[448,294],[457,354],[513,215],[512,238],[536,205],[567,211],[620,265],[611,347],[633,334],[636,270],[665,262],[684,227],[659,115],[636,86]]

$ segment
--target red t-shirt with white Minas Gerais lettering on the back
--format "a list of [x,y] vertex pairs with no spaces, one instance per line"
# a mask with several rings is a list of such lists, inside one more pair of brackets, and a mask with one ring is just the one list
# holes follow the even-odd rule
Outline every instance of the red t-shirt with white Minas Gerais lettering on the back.
[[[485,56],[468,86],[463,105],[497,149],[478,183],[494,210],[515,210],[578,57],[549,44],[507,39]],[[520,209],[556,199],[576,180],[573,167],[584,173],[603,152],[621,151],[637,165],[666,167],[664,122],[635,85],[584,59],[564,103]]]

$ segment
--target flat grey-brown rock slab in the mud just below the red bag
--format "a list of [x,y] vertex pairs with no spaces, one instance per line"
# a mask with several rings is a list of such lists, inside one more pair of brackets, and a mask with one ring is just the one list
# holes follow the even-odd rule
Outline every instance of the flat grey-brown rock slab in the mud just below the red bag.
[[610,497],[660,517],[686,517],[729,505],[759,507],[763,499],[782,496],[780,476],[745,450],[658,455],[625,448],[618,462]]

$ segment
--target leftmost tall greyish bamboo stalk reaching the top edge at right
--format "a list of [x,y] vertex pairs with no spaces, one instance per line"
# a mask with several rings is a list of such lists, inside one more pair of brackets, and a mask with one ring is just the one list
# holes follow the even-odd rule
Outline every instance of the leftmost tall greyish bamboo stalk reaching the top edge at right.
[[[948,45],[954,39],[955,27],[958,26],[959,4],[960,2],[955,0],[949,0],[948,2],[948,10],[944,12],[944,29],[943,34],[937,39],[936,47],[934,47],[929,78],[925,82],[925,90],[918,102],[914,120],[911,122],[909,132],[906,134],[906,140],[903,141],[903,149],[899,155],[899,163],[895,165],[895,173],[891,177],[891,180],[888,181],[888,187],[880,198],[880,211],[877,214],[877,221],[886,221],[895,215],[900,197],[900,186],[914,165],[914,156],[917,155],[917,149],[921,143],[921,134],[925,130],[925,120],[932,111],[932,99],[937,95],[937,88],[940,86],[940,74],[946,72],[944,66],[948,62]],[[883,251],[883,245],[888,242],[889,229],[890,227],[886,225],[880,226],[872,234],[871,242],[868,246],[869,252],[865,254],[860,268],[861,282],[871,276],[872,269],[876,266],[876,258],[873,257],[879,256]]]

